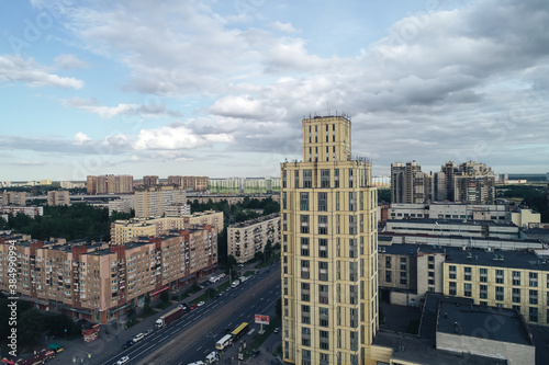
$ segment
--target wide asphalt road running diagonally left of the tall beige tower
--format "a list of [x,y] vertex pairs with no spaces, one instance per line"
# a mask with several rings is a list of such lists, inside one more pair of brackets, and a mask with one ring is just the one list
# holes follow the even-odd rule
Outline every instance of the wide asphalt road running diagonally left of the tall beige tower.
[[254,315],[272,316],[279,297],[280,266],[274,265],[269,272],[260,272],[220,298],[153,332],[102,365],[115,364],[124,355],[130,356],[128,365],[180,365],[204,361],[205,355],[215,350],[215,342],[225,328],[234,329],[245,321],[253,330],[259,328],[259,324],[253,324]]

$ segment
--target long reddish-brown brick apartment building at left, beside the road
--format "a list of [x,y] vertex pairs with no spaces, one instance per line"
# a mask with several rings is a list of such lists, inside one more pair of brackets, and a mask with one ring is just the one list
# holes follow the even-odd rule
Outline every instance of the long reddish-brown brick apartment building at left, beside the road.
[[0,242],[0,289],[8,292],[9,251],[16,252],[18,295],[45,310],[107,323],[145,296],[175,290],[217,265],[214,227],[111,247]]

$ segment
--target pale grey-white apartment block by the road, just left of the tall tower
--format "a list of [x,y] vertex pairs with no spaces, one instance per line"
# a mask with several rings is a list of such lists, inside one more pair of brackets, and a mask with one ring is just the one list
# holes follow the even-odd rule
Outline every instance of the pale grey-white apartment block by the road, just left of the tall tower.
[[249,219],[227,227],[228,254],[237,263],[254,259],[257,252],[264,252],[267,242],[280,243],[280,214]]

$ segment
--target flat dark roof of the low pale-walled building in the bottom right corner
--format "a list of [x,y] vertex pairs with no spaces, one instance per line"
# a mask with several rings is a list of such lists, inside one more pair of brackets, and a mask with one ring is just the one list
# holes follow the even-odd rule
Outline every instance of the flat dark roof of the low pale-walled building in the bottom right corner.
[[437,332],[533,346],[520,315],[508,308],[439,301]]

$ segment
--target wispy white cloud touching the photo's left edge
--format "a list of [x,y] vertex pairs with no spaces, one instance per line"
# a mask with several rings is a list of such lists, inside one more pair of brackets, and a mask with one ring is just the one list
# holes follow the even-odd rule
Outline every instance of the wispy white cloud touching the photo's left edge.
[[24,60],[20,56],[0,56],[0,82],[24,82],[32,88],[57,87],[81,89],[83,81],[69,77],[48,73],[47,68],[32,58]]

